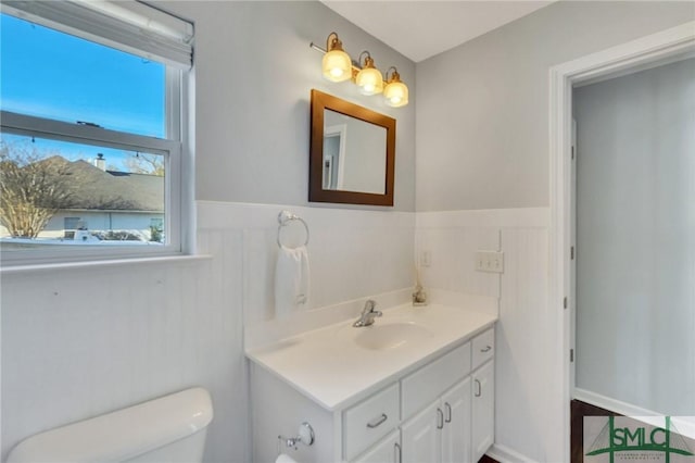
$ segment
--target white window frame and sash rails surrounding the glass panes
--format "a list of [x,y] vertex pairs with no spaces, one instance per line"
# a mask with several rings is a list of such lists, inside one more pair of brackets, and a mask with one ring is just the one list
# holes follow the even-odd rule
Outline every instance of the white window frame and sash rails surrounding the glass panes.
[[[8,7],[8,4],[11,4]],[[165,197],[164,224],[166,243],[157,246],[60,246],[47,245],[45,248],[29,250],[12,250],[0,253],[0,265],[12,268],[26,265],[60,264],[74,262],[93,262],[100,260],[142,259],[176,256],[193,252],[194,247],[194,213],[193,213],[193,163],[188,143],[189,111],[189,71],[192,66],[192,24],[151,7],[136,2],[115,2],[116,10],[132,10],[138,17],[152,15],[156,24],[172,24],[184,32],[180,39],[172,41],[163,37],[162,42],[153,42],[147,37],[144,40],[132,41],[140,26],[134,26],[123,18],[104,16],[103,12],[91,14],[89,3],[83,0],[67,2],[26,2],[8,1],[2,4],[2,12],[17,17],[36,22],[63,33],[78,32],[78,36],[89,41],[115,46],[124,52],[134,52],[132,45],[143,55],[165,65],[164,89],[166,138],[155,138],[101,127],[92,127],[76,123],[36,117],[0,111],[0,126],[3,133],[24,135],[37,138],[63,140],[83,145],[144,151],[164,155],[165,159]],[[46,8],[43,8],[46,7]],[[89,7],[89,8],[87,8]],[[38,9],[38,10],[36,10]],[[76,14],[79,13],[79,14]],[[130,15],[128,20],[130,20]],[[79,21],[77,21],[79,20]],[[117,22],[114,22],[117,20]],[[58,26],[58,27],[54,27]],[[77,28],[75,26],[78,26]],[[132,29],[132,27],[136,27]],[[81,28],[81,30],[78,30]],[[86,29],[89,30],[86,30]],[[121,29],[121,32],[119,32]],[[103,33],[105,40],[98,35]],[[84,33],[84,34],[83,34]],[[96,34],[97,33],[97,34]],[[152,37],[147,34],[148,37]],[[118,42],[119,37],[130,40]],[[114,40],[114,38],[116,40]],[[154,47],[149,49],[148,47]],[[162,54],[157,52],[163,51]],[[151,54],[154,52],[155,54]],[[168,53],[168,54],[167,54]],[[172,59],[172,57],[175,57]],[[182,172],[186,170],[187,175]]]

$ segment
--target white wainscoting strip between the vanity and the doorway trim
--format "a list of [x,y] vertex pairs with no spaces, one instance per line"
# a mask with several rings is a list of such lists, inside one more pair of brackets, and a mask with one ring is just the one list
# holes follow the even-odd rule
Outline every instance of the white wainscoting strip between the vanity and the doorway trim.
[[[546,399],[560,372],[551,372],[547,322],[548,236],[545,228],[502,230],[502,277],[495,379],[495,437],[504,446],[545,461]],[[523,429],[522,431],[520,431]]]

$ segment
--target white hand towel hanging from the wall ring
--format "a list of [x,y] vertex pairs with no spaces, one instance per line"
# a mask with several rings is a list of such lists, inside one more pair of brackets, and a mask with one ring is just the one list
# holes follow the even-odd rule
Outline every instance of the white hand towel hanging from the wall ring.
[[305,309],[308,300],[308,252],[306,247],[281,247],[275,266],[275,316],[287,318]]

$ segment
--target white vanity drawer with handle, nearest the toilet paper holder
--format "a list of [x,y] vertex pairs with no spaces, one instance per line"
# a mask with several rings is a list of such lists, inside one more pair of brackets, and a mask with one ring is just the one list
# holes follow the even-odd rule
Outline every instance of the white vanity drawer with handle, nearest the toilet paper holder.
[[399,385],[377,392],[343,413],[345,459],[351,460],[399,425]]

